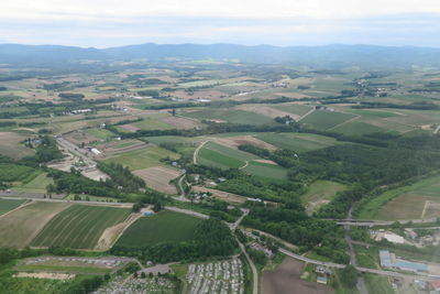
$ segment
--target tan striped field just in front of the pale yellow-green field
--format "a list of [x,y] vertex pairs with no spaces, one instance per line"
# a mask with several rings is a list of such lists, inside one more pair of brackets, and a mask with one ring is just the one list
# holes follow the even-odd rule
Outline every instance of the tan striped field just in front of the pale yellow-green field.
[[167,194],[177,194],[176,187],[170,185],[169,181],[178,177],[180,175],[179,171],[164,166],[155,166],[138,170],[133,173],[144,179],[146,185],[153,189]]

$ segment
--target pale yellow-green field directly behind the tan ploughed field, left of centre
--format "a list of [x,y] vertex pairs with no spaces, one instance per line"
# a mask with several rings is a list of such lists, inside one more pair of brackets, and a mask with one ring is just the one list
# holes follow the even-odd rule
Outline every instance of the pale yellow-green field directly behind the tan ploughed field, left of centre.
[[169,156],[178,159],[178,154],[160,146],[146,146],[133,150],[117,156],[108,157],[105,162],[116,162],[128,166],[132,171],[164,165],[160,160]]

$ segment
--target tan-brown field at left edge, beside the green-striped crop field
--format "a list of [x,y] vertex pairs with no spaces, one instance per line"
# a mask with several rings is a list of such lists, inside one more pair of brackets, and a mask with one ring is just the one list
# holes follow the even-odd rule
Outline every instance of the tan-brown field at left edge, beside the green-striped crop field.
[[43,227],[70,204],[36,202],[25,205],[0,221],[0,247],[25,247]]

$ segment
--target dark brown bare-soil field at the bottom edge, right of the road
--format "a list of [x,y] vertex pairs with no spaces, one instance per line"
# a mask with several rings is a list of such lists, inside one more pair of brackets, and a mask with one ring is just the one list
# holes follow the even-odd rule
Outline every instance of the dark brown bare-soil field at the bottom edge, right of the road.
[[334,291],[318,283],[299,279],[304,263],[286,258],[275,271],[263,272],[262,294],[332,294]]

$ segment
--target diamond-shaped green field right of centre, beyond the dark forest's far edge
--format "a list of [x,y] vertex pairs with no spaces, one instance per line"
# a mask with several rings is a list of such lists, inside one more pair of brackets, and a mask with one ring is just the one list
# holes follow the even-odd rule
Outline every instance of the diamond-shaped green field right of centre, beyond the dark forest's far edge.
[[354,117],[354,115],[349,113],[317,110],[302,119],[301,123],[306,123],[319,130],[328,130]]

